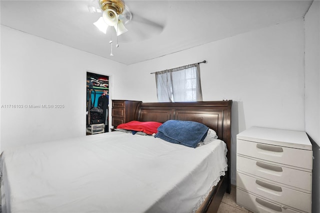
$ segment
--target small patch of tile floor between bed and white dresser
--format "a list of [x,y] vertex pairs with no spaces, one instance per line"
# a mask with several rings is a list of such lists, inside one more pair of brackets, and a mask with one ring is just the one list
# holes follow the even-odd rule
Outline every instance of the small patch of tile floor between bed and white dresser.
[[252,213],[236,205],[235,203],[235,186],[231,186],[231,193],[225,193],[220,203],[217,213]]

